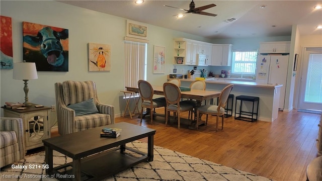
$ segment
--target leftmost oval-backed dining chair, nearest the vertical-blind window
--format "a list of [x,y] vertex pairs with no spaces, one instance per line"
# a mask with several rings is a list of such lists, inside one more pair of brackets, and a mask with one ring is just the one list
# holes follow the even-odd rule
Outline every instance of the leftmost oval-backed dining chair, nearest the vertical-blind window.
[[[152,85],[146,80],[138,81],[139,93],[141,95],[141,122],[143,117],[143,108],[149,109],[151,123],[153,120],[153,111],[155,108],[166,107],[166,101],[163,99],[153,99],[154,90]],[[166,113],[166,109],[165,109]]]

